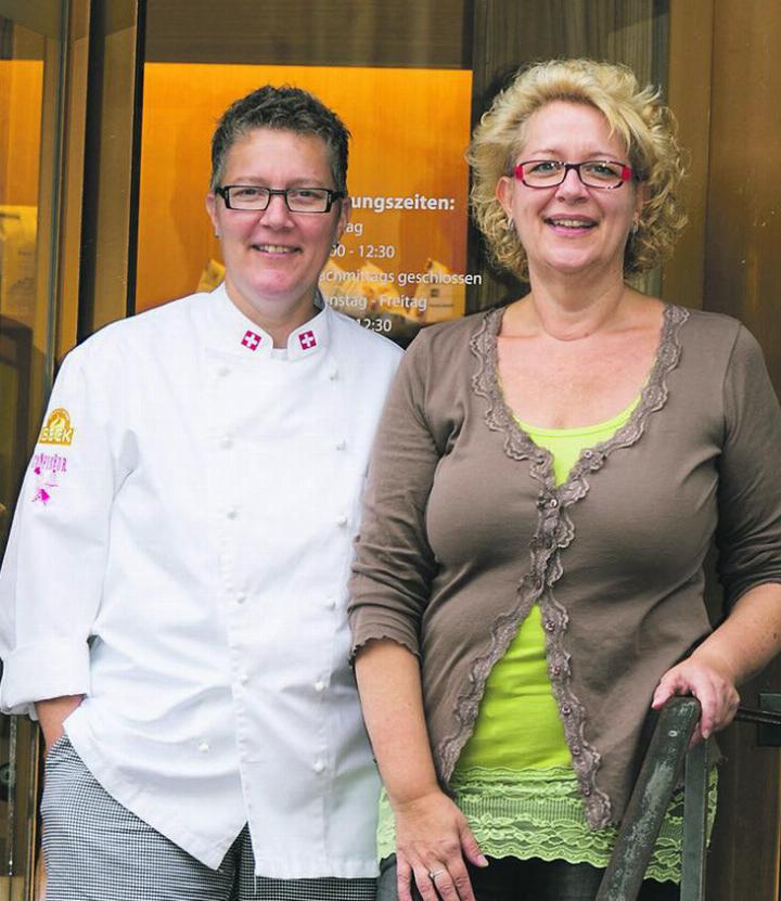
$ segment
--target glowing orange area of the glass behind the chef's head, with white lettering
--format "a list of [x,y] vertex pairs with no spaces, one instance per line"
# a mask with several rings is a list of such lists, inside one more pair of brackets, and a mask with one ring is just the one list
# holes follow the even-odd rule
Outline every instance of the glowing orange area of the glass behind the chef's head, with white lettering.
[[401,345],[462,316],[481,280],[466,270],[470,72],[195,63],[144,66],[137,311],[221,281],[203,209],[208,141],[220,112],[264,83],[312,91],[353,132],[351,216],[321,275],[328,303]]

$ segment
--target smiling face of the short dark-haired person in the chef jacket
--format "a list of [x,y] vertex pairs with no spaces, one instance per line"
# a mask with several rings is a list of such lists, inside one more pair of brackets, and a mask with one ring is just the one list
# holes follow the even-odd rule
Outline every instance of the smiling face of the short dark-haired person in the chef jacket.
[[[315,134],[257,128],[228,152],[222,185],[330,188],[336,190],[325,143]],[[284,344],[312,316],[320,271],[331,245],[347,224],[349,203],[329,213],[291,213],[272,195],[259,211],[227,209],[220,196],[206,196],[222,246],[226,289],[236,307]]]

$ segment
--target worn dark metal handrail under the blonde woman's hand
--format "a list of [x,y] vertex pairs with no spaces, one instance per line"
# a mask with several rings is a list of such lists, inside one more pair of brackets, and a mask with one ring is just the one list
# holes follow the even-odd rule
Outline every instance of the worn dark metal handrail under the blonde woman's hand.
[[[662,709],[596,901],[637,901],[683,758],[680,901],[705,898],[707,742],[687,754],[699,719],[700,702],[694,697],[673,697]],[[781,725],[781,715],[745,707],[739,708],[735,719]]]

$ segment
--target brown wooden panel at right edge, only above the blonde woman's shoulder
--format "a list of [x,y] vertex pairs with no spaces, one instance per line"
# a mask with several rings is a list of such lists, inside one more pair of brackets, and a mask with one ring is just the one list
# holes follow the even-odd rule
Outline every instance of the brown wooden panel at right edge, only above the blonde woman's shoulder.
[[781,390],[781,3],[716,0],[707,308],[761,340]]

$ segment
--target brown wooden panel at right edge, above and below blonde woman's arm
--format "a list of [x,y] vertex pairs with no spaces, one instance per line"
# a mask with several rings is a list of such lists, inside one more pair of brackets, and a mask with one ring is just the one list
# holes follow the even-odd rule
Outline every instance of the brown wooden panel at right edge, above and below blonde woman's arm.
[[[704,306],[754,332],[781,392],[781,4],[715,0],[714,9]],[[779,661],[744,686],[745,702],[763,686],[781,690]],[[744,725],[725,736],[708,901],[779,898],[780,752],[754,741]]]

